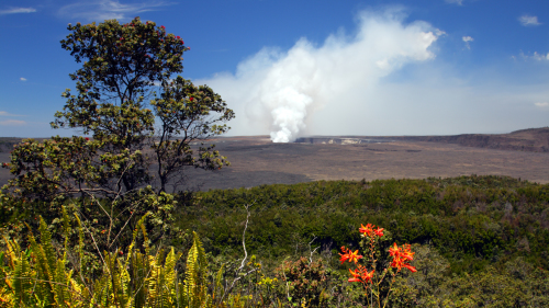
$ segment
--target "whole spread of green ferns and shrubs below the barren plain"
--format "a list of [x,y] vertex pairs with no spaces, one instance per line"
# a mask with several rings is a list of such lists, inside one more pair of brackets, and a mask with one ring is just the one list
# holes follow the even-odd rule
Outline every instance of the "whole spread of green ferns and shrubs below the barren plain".
[[[390,195],[385,190],[400,198],[383,201]],[[411,265],[417,273],[404,271],[396,277],[388,293],[390,307],[545,307],[546,192],[545,185],[494,176],[272,185],[212,191],[194,198],[143,191],[132,202],[143,201],[149,210],[127,227],[130,246],[93,229],[100,225],[83,219],[78,199],[67,199],[57,205],[61,219],[51,226],[35,223],[40,242],[31,238],[23,251],[7,240],[2,274],[22,278],[0,282],[0,296],[31,306],[68,298],[66,303],[79,307],[87,298],[99,307],[357,307],[365,303],[363,289],[347,282],[348,266],[334,256],[340,244],[358,249],[360,223],[355,220],[367,219],[391,230],[380,238],[378,260],[386,261],[394,241],[414,243]],[[187,202],[177,218],[171,207],[176,199]],[[248,199],[256,201],[248,207],[249,217],[236,207]],[[368,203],[372,199],[383,201],[383,206]],[[111,208],[104,199],[93,202]],[[161,224],[165,218],[198,230],[188,246],[171,240],[165,226],[169,224]],[[72,230],[74,224],[81,227]],[[246,247],[261,261],[237,259],[246,226]],[[178,248],[164,253],[154,247],[154,237],[163,235]],[[90,250],[109,238],[115,249]],[[176,271],[183,265],[176,251],[187,247],[186,270]],[[300,258],[303,254],[307,259]],[[88,270],[93,262],[99,267]],[[30,288],[32,293],[23,292]]]

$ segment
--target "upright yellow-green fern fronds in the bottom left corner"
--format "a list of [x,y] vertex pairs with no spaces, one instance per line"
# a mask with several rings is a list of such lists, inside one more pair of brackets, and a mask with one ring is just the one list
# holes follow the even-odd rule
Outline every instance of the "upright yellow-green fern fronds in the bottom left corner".
[[[181,254],[173,248],[167,255],[163,250],[152,254],[144,218],[139,219],[126,253],[120,250],[101,254],[103,267],[97,278],[83,276],[78,270],[75,276],[75,271],[66,267],[67,246],[59,258],[41,219],[41,241],[31,236],[30,250],[22,251],[16,241],[7,241],[0,266],[5,277],[0,281],[2,307],[213,307],[212,296],[206,294],[205,254],[198,235],[194,233],[187,278],[181,284],[176,270]],[[67,215],[65,221],[68,235]],[[81,226],[79,230],[85,232]],[[135,249],[138,232],[145,239],[145,253]]]

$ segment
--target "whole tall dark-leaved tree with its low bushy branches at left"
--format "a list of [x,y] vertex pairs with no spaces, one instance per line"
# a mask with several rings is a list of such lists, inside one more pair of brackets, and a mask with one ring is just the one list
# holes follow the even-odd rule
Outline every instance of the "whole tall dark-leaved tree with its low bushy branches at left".
[[[101,249],[131,239],[145,213],[150,214],[149,233],[158,239],[173,219],[176,203],[166,194],[169,181],[186,167],[214,170],[228,164],[213,145],[191,144],[225,133],[234,112],[209,87],[172,77],[182,71],[182,54],[190,48],[164,26],[135,18],[126,24],[69,24],[68,30],[61,47],[83,65],[69,75],[76,92],[63,93],[67,102],[52,127],[76,128],[91,138],[23,140],[4,166],[15,176],[0,198],[26,212],[32,225],[37,215],[49,221],[60,217],[67,198],[78,196],[79,205],[72,199],[69,208],[87,230],[109,232]],[[46,203],[36,206],[38,201]]]

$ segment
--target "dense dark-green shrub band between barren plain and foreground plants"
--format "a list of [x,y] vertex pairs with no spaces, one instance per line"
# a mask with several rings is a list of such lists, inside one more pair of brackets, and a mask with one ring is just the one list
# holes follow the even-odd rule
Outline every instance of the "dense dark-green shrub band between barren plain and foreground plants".
[[269,260],[305,253],[313,237],[321,251],[355,250],[356,226],[371,221],[396,242],[433,244],[451,273],[515,256],[549,269],[548,185],[501,176],[264,185],[198,193],[178,221],[205,235],[208,251],[231,255],[245,219],[237,205],[251,202],[247,246]]

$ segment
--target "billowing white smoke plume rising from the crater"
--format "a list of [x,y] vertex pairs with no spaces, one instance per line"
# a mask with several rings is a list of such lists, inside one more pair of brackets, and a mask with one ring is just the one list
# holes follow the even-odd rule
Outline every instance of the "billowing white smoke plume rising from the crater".
[[346,109],[349,93],[360,96],[404,65],[434,58],[429,47],[442,34],[425,22],[404,24],[400,11],[362,12],[354,35],[333,34],[322,46],[301,38],[285,53],[264,48],[240,62],[236,75],[197,83],[211,85],[235,109],[233,134],[268,129],[272,141],[289,142],[306,132],[315,111],[327,104]]

